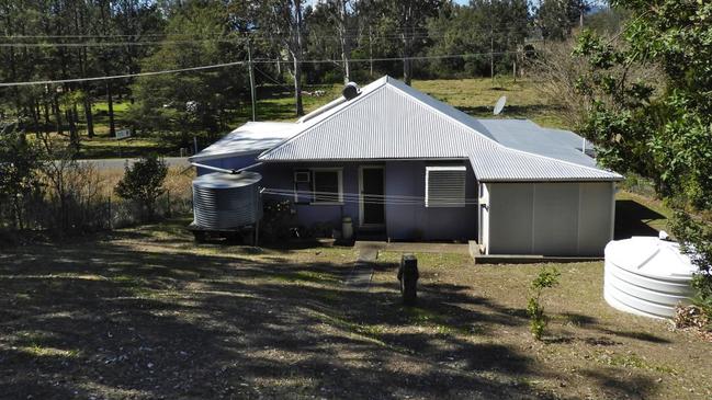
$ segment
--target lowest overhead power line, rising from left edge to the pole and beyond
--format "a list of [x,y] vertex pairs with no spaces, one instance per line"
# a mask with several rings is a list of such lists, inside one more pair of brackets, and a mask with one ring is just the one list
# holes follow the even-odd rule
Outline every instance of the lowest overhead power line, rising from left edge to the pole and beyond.
[[[486,53],[452,54],[452,55],[440,55],[440,56],[351,58],[351,59],[349,59],[349,62],[402,61],[402,60],[405,60],[405,59],[409,59],[409,60],[455,59],[455,58],[471,58],[471,57],[489,56],[489,55],[530,54],[530,53],[531,52],[486,52]],[[341,61],[342,61],[341,59],[300,60],[301,64],[338,64],[338,62],[341,62]],[[246,60],[240,60],[240,61],[214,64],[214,65],[201,66],[201,67],[168,69],[168,70],[150,71],[150,72],[114,75],[114,76],[106,76],[106,77],[72,78],[72,79],[57,79],[57,80],[25,81],[25,82],[3,82],[3,83],[0,83],[0,88],[24,87],[24,85],[34,85],[34,84],[72,83],[72,82],[99,81],[99,80],[110,80],[110,79],[124,79],[124,78],[135,78],[135,77],[148,77],[148,76],[157,76],[157,75],[165,75],[165,73],[178,73],[178,72],[197,71],[197,70],[205,70],[205,69],[215,69],[215,68],[223,68],[223,67],[239,66],[239,65],[246,65],[247,62],[248,61],[246,61]],[[256,59],[256,60],[252,60],[252,64],[274,64],[274,62],[275,62],[274,59]]]

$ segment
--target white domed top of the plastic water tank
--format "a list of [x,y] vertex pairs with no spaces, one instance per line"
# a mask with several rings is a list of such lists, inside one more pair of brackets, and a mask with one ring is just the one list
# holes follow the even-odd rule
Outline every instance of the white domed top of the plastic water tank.
[[606,245],[606,260],[630,272],[656,277],[690,277],[698,268],[676,242],[632,237]]

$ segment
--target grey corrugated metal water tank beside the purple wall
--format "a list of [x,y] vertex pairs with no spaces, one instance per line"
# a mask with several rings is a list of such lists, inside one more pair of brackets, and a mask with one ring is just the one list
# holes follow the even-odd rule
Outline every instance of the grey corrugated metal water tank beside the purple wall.
[[193,180],[194,224],[206,229],[231,229],[262,218],[259,183],[262,175],[207,173]]

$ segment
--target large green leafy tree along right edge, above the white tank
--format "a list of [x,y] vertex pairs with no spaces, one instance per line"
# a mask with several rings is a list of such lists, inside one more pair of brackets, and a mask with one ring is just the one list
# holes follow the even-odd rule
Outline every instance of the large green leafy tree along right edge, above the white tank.
[[[625,47],[589,32],[575,52],[590,67],[578,83],[590,99],[584,133],[599,146],[604,164],[656,182],[658,194],[676,209],[674,233],[700,270],[698,290],[712,288],[712,235],[694,216],[712,209],[712,3],[619,0],[613,5],[632,13]],[[658,85],[631,78],[635,65],[655,66],[665,78]],[[712,297],[712,290],[707,294]]]

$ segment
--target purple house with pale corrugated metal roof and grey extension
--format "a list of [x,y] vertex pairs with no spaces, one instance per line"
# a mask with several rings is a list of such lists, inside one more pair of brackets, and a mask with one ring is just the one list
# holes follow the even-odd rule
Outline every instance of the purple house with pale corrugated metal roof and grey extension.
[[[344,93],[347,93],[344,91]],[[249,123],[191,159],[262,174],[303,226],[392,240],[476,240],[486,254],[599,255],[615,182],[579,136],[478,119],[391,77],[296,123]]]

